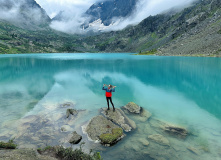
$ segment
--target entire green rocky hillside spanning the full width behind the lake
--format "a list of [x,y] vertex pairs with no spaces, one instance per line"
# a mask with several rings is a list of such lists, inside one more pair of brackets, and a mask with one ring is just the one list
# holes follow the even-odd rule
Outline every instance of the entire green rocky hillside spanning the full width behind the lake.
[[220,56],[221,2],[204,0],[180,12],[144,19],[136,26],[99,35],[27,30],[0,21],[0,53],[136,52]]

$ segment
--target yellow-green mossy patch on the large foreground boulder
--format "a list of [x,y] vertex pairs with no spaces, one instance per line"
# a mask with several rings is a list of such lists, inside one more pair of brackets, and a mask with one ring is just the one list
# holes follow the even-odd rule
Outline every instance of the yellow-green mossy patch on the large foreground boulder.
[[122,128],[114,128],[112,129],[112,133],[105,133],[100,135],[101,143],[104,145],[113,145],[116,144],[119,140],[122,139],[123,129]]

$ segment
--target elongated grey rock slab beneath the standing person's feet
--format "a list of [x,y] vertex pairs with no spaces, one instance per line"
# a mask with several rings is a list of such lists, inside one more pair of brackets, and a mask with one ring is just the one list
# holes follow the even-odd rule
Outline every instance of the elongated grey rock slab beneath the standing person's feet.
[[112,122],[121,126],[125,132],[130,132],[136,129],[136,124],[133,120],[129,119],[121,109],[116,109],[115,112],[102,108],[101,113]]

